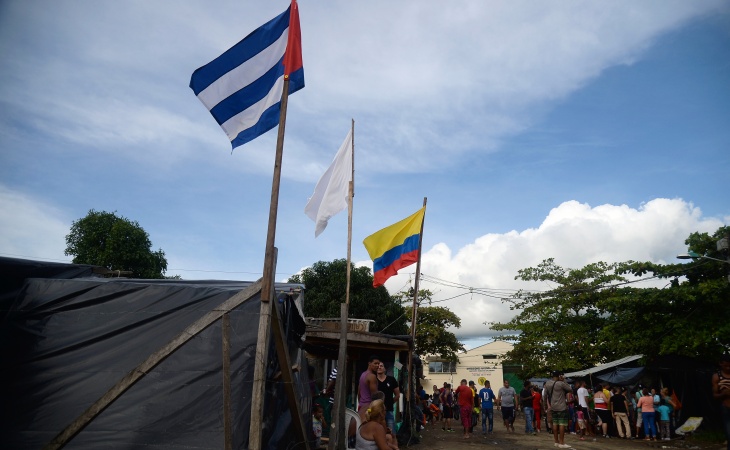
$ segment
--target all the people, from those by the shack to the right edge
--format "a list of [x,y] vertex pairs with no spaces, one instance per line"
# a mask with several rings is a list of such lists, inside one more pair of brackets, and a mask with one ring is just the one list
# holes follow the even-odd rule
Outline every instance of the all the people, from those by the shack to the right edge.
[[[336,378],[336,371],[333,374]],[[682,404],[668,387],[629,389],[608,383],[589,386],[586,380],[575,380],[571,385],[562,372],[554,371],[551,375],[542,388],[525,381],[519,394],[509,380],[504,380],[496,394],[489,380],[479,390],[466,379],[455,388],[449,383],[441,388],[434,385],[430,394],[418,385],[415,422],[422,427],[430,424],[434,429],[440,424],[444,432],[454,432],[452,426],[461,422],[464,439],[470,439],[480,423],[483,436],[494,433],[495,410],[501,413],[505,431],[515,433],[515,418],[522,411],[524,433],[541,433],[544,419],[545,430],[553,435],[558,448],[571,447],[565,443],[566,434],[579,440],[667,441],[679,425]],[[723,356],[720,370],[713,376],[712,389],[715,400],[722,403],[723,425],[730,438],[730,356]],[[377,357],[371,357],[359,383],[358,412],[363,424],[354,436],[358,449],[398,449],[393,436],[393,406],[399,397],[398,382],[386,374],[385,365]],[[321,436],[322,427],[326,426],[321,408],[315,408],[314,418],[315,435]]]

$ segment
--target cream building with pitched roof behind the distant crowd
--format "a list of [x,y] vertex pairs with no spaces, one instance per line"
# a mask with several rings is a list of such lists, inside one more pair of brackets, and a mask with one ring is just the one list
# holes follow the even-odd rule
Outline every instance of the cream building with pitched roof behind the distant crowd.
[[494,341],[480,345],[467,352],[459,353],[459,362],[451,363],[434,356],[423,358],[423,375],[421,385],[427,393],[431,393],[433,385],[443,387],[444,382],[452,387],[458,386],[462,379],[474,381],[478,386],[489,380],[492,388],[499,389],[505,378],[504,355],[512,350],[513,345],[505,341]]

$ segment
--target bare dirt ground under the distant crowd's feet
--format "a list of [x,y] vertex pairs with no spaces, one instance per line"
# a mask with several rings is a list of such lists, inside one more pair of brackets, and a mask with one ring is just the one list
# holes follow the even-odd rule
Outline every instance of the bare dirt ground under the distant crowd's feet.
[[[494,433],[485,437],[481,432],[481,424],[474,428],[474,434],[469,439],[464,439],[463,428],[459,423],[452,423],[454,432],[447,432],[441,429],[441,424],[432,427],[430,424],[426,430],[422,430],[419,443],[401,445],[401,448],[414,448],[424,450],[467,450],[474,448],[491,447],[494,449],[515,449],[515,450],[547,450],[555,449],[553,435],[546,432],[538,433],[536,436],[524,433],[525,421],[520,417],[515,421],[515,432],[507,433],[502,424],[499,413],[494,418]],[[522,430],[522,432],[520,432]],[[719,450],[725,449],[724,444],[707,444],[704,442],[689,439],[673,439],[671,441],[644,441],[626,440],[619,438],[605,439],[586,437],[581,441],[572,434],[565,435],[565,443],[576,450],[590,449],[614,449],[614,450],[653,450],[653,449],[691,449],[691,450]]]

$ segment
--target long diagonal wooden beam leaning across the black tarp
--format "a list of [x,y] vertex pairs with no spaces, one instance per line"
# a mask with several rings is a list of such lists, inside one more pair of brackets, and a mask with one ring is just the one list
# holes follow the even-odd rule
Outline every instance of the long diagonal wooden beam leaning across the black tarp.
[[132,369],[127,375],[109,389],[99,400],[94,402],[86,411],[71,422],[63,429],[51,442],[43,447],[45,450],[56,450],[63,448],[74,436],[83,430],[96,416],[101,414],[109,405],[111,405],[120,395],[127,389],[132,387],[137,381],[144,377],[155,366],[170,356],[175,350],[183,346],[187,341],[195,335],[212,325],[216,320],[220,319],[225,313],[237,308],[245,301],[251,299],[261,290],[261,280],[243,289],[233,297],[218,305],[215,309],[205,314],[193,324],[188,326],[182,333],[175,336],[170,342],[162,348],[151,354],[144,362]]

